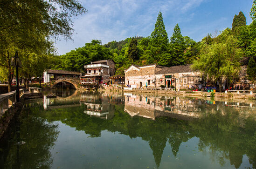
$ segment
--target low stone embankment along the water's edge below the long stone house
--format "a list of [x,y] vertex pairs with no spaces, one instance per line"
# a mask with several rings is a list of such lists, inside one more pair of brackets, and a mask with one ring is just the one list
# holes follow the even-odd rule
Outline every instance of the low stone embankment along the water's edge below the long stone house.
[[[201,92],[201,91],[171,91],[171,90],[145,90],[145,89],[132,89],[124,90],[126,93],[152,93],[161,95],[182,95],[182,96],[192,96],[192,97],[210,97],[211,93]],[[256,92],[252,95],[248,92],[228,92],[228,93],[214,93],[216,98],[232,98],[232,99],[256,99]]]

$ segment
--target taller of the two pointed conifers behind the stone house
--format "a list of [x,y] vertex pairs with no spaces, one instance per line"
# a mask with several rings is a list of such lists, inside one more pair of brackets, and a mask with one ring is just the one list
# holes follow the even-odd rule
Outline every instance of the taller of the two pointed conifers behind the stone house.
[[158,63],[161,60],[161,57],[167,53],[167,47],[168,35],[166,33],[162,13],[159,12],[155,29],[151,33],[151,41],[149,43],[151,58],[149,58],[148,62]]

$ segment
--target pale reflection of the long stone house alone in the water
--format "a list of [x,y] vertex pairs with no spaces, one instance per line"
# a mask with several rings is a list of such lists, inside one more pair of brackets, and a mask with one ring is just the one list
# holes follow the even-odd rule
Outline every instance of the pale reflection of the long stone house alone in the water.
[[154,97],[125,93],[125,112],[131,116],[140,115],[155,119],[158,116],[176,115],[198,117],[201,114],[201,100],[179,97]]

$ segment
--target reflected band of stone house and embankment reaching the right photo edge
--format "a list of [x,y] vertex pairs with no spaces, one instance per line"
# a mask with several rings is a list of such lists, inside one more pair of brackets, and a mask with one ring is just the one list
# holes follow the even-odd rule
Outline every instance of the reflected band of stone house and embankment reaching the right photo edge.
[[200,118],[208,113],[226,114],[227,106],[239,110],[240,115],[252,115],[256,111],[255,103],[213,101],[175,96],[149,96],[125,93],[125,112],[155,120],[159,116],[188,120]]

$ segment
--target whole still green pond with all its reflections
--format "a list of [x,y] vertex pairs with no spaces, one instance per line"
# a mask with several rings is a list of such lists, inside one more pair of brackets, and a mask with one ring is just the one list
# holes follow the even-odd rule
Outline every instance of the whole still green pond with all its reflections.
[[55,91],[28,101],[1,169],[256,168],[256,102]]

